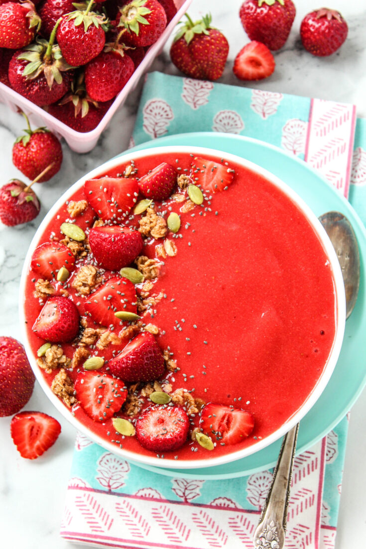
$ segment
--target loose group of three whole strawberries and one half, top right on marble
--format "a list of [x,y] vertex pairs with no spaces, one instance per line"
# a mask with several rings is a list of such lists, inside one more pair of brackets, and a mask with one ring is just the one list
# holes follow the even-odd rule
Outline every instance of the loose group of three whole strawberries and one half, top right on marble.
[[[240,50],[233,71],[240,80],[261,80],[271,76],[275,60],[271,53],[287,41],[296,8],[292,0],[245,0],[239,16],[251,42]],[[337,51],[347,37],[348,27],[336,10],[321,8],[302,20],[303,47],[324,57]],[[217,80],[222,76],[229,51],[226,37],[211,26],[211,17],[182,23],[171,46],[174,65],[192,78]]]

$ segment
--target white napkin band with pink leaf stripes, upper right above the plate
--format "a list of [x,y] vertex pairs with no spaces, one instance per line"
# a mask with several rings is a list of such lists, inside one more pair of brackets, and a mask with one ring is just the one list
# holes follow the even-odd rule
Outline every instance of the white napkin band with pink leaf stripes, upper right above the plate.
[[313,99],[305,160],[348,197],[356,109],[353,105]]

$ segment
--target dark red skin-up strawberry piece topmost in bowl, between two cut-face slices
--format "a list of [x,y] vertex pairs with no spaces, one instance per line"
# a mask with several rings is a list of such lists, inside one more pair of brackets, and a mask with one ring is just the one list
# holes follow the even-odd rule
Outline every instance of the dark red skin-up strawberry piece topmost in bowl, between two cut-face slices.
[[173,166],[162,162],[154,170],[140,178],[138,188],[146,198],[164,200],[168,198],[177,182],[177,172]]

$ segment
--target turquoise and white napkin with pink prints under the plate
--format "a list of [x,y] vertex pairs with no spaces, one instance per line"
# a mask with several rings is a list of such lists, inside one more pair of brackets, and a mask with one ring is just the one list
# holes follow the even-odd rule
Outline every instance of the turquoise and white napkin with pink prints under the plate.
[[[131,146],[193,131],[255,137],[316,167],[365,220],[366,121],[357,120],[356,133],[355,126],[353,105],[153,72]],[[287,549],[334,547],[347,428],[345,417],[295,459]],[[60,534],[106,547],[252,549],[271,478],[272,470],[240,479],[171,478],[78,434]]]

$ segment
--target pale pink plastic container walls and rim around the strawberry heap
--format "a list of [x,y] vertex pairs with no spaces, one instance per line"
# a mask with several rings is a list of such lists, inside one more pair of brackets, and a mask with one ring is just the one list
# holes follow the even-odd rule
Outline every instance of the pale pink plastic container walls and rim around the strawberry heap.
[[148,52],[146,53],[144,59],[134,71],[131,78],[128,80],[126,86],[121,90],[121,92],[116,96],[114,102],[111,104],[108,111],[106,111],[102,120],[99,122],[98,126],[94,128],[91,132],[81,133],[75,130],[72,130],[63,122],[60,122],[54,116],[46,113],[41,107],[38,107],[25,97],[22,97],[19,93],[15,92],[12,88],[5,86],[0,82],[0,102],[5,103],[8,107],[14,111],[21,109],[24,113],[29,116],[31,122],[37,126],[47,126],[49,130],[55,132],[59,137],[64,137],[66,143],[69,145],[70,149],[75,150],[77,153],[88,153],[89,150],[92,150],[98,142],[98,139],[103,132],[103,130],[108,126],[112,116],[115,112],[125,103],[125,100],[129,92],[133,91],[136,87],[137,82],[140,79],[140,76],[147,72],[153,63],[155,57],[159,55],[164,48],[165,42],[168,40],[168,37],[173,32],[174,26],[182,18],[184,13],[187,11],[192,0],[174,0],[174,3],[177,6],[177,13],[167,25],[165,31],[160,36],[159,40],[153,44]]

